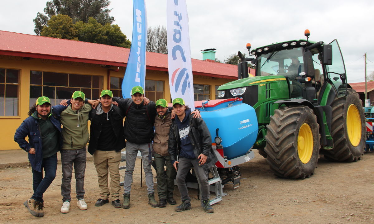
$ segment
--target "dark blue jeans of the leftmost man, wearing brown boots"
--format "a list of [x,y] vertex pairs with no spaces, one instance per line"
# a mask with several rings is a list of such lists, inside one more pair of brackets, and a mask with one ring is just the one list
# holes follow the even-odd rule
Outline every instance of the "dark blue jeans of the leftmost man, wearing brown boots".
[[[43,178],[44,169],[44,178]],[[57,153],[53,156],[44,158],[42,160],[42,172],[38,172],[34,169],[33,171],[33,188],[34,194],[31,196],[32,199],[43,202],[43,194],[56,177],[57,170]]]

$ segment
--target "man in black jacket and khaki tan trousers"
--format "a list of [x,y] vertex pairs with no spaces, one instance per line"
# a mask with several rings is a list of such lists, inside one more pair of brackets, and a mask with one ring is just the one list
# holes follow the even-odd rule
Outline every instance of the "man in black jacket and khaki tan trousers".
[[[126,142],[123,134],[123,112],[112,104],[112,98],[112,91],[102,90],[99,104],[91,110],[88,152],[93,155],[100,188],[100,196],[95,206],[108,203],[108,196],[111,193],[112,205],[114,208],[121,208],[119,163],[121,150],[126,147]],[[110,190],[108,171],[110,172]]]

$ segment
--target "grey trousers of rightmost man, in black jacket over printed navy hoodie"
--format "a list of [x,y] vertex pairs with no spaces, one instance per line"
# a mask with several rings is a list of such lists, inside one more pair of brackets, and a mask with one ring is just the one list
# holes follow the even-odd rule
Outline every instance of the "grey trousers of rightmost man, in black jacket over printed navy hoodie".
[[193,169],[195,171],[195,174],[197,177],[199,177],[199,185],[201,189],[201,199],[202,200],[209,200],[209,182],[208,182],[208,174],[206,171],[199,166],[199,163],[196,159],[187,159],[185,157],[182,157],[178,160],[178,172],[177,177],[175,178],[177,180],[177,186],[179,189],[179,192],[181,193],[181,200],[183,202],[190,202],[190,196],[188,196],[188,190],[186,185],[186,175],[188,171],[190,171],[191,166],[193,166]]

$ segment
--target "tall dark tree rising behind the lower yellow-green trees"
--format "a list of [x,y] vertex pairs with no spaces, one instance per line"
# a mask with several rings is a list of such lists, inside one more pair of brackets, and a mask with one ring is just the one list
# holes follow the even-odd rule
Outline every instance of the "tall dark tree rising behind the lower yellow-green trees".
[[112,24],[114,17],[110,16],[111,9],[108,9],[110,0],[52,0],[47,1],[44,13],[37,13],[33,20],[36,35],[42,33],[43,26],[52,16],[63,14],[73,19],[73,23],[83,21],[88,22],[89,17],[96,19],[102,25]]

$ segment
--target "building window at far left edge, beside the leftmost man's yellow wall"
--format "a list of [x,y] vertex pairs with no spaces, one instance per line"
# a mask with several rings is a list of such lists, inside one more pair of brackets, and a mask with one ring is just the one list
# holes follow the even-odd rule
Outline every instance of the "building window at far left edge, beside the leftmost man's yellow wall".
[[20,71],[0,68],[0,116],[18,116]]

